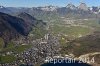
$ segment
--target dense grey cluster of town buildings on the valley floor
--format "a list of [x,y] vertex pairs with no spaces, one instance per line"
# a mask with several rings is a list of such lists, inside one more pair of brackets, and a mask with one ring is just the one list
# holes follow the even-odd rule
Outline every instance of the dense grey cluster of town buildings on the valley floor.
[[15,54],[17,60],[12,63],[1,64],[0,66],[34,66],[44,63],[46,57],[53,57],[59,54],[58,38],[50,34],[46,34],[44,38],[31,41],[32,48]]

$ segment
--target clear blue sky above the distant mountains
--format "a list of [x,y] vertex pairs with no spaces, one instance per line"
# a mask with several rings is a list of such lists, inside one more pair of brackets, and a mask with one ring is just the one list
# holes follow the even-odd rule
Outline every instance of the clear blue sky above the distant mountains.
[[100,6],[100,0],[0,0],[0,5],[8,7],[66,6],[68,3],[79,5],[81,1],[88,6]]

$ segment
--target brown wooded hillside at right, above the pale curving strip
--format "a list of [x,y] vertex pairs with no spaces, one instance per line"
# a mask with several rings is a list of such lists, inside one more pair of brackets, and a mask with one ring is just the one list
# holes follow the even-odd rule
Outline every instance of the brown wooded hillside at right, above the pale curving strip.
[[100,52],[100,33],[95,32],[92,35],[87,35],[75,39],[66,44],[62,49],[66,53],[73,53],[75,56],[80,56],[87,53]]

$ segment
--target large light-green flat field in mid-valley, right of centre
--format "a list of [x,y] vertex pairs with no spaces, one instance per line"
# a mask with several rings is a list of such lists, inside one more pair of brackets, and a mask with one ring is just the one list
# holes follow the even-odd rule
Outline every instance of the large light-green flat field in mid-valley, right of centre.
[[66,27],[66,26],[55,25],[52,27],[52,31],[54,32],[54,34],[62,33],[68,35],[69,37],[75,37],[75,38],[79,37],[80,35],[84,36],[91,33],[90,28],[85,28],[81,26]]

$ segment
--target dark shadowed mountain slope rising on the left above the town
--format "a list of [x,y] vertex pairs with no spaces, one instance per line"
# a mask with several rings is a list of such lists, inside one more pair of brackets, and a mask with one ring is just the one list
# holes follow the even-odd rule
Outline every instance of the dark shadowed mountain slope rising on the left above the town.
[[4,47],[11,39],[19,36],[28,36],[29,32],[37,25],[45,25],[27,13],[20,13],[17,17],[0,12],[0,37]]

